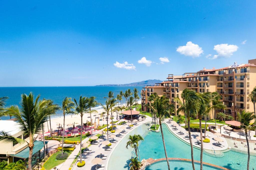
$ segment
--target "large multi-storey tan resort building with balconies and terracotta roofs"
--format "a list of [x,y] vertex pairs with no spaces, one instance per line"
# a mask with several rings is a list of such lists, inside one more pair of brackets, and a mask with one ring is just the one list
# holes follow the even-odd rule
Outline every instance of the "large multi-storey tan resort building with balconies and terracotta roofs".
[[[175,115],[179,105],[174,102],[175,97],[181,98],[184,89],[194,89],[196,92],[215,92],[221,95],[221,101],[227,106],[225,110],[216,110],[226,115],[232,115],[237,120],[237,113],[241,110],[254,111],[253,103],[249,94],[256,86],[256,59],[248,60],[248,64],[237,64],[236,62],[225,68],[202,69],[198,72],[184,73],[174,76],[169,74],[167,81],[146,86],[141,91],[142,110],[149,112],[145,104],[150,104],[148,97],[157,93],[159,96],[166,96],[170,104],[175,106]],[[209,115],[212,119],[211,114]]]

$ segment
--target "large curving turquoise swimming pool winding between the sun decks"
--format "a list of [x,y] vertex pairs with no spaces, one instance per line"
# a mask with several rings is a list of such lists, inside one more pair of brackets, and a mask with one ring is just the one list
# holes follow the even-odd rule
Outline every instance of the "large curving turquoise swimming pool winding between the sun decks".
[[[133,134],[144,134],[148,128],[150,127],[150,122],[145,123],[134,130],[132,130],[128,135],[126,135],[122,141],[116,146],[114,151],[110,156],[110,160],[108,163],[108,169],[129,169],[129,159],[131,158],[131,154],[133,149],[126,149],[126,142],[129,135]],[[180,141],[177,137],[175,137],[169,130],[166,125],[163,125],[163,133],[166,143],[167,155],[169,158],[186,158],[191,159],[190,154],[190,146],[182,141]],[[145,137],[144,141],[140,144],[139,147],[140,157],[141,159],[159,159],[165,158],[163,141],[161,137],[161,133],[149,132]],[[219,165],[222,167],[226,167],[228,169],[240,170],[246,169],[247,167],[247,157],[248,155],[228,151],[224,153],[224,156],[221,158],[216,158],[207,154],[203,155],[203,161],[215,165]],[[200,161],[200,150],[194,148],[194,159]],[[256,169],[256,157],[251,156],[250,159],[250,169],[254,167]],[[156,163],[157,165],[158,163]],[[154,164],[153,164],[154,165]],[[153,166],[152,165],[152,166]],[[163,167],[162,167],[163,166]],[[174,165],[170,164],[173,168]],[[157,166],[158,169],[166,169],[165,164],[160,164]],[[151,167],[149,167],[151,168]],[[204,169],[208,169],[205,167]],[[177,169],[179,170],[179,169]]]

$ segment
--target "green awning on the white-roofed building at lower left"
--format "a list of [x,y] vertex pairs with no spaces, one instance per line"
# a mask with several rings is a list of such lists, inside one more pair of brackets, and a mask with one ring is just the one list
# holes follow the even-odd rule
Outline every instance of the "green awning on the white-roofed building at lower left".
[[[46,141],[45,144],[47,144],[48,142]],[[44,142],[43,141],[34,141],[34,147],[33,147],[33,155],[38,152],[40,149],[42,149],[44,147]],[[29,155],[29,148],[25,148],[22,151],[20,151],[17,154],[9,154],[9,156],[14,156],[17,158],[22,158],[22,159],[27,159]]]

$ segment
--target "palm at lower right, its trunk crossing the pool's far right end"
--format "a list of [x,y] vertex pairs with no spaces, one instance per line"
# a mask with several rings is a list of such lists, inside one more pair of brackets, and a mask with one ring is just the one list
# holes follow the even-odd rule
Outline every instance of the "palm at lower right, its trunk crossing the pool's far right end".
[[[248,130],[252,127],[250,122],[255,119],[253,112],[247,112],[246,110],[241,111],[238,113],[238,120],[241,123],[241,128],[244,129],[246,142],[247,142],[247,151],[248,151],[248,160],[247,160],[247,170],[249,170],[249,163],[250,163],[250,147],[249,147],[249,141],[248,141]],[[254,122],[255,123],[255,122]]]

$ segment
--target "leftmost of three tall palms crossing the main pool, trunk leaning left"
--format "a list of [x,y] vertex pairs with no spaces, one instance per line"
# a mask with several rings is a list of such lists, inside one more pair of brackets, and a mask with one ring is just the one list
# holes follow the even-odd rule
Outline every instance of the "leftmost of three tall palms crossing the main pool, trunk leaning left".
[[168,156],[167,156],[166,147],[165,147],[165,141],[164,141],[164,133],[162,129],[162,118],[168,117],[169,110],[171,107],[169,104],[169,99],[167,99],[165,96],[162,96],[162,97],[158,96],[150,106],[147,104],[146,106],[150,108],[152,112],[154,112],[159,119],[159,125],[161,129],[161,135],[162,135],[162,140],[164,145],[165,158],[168,165],[168,169],[170,170],[170,165],[169,165]]

